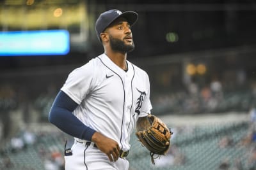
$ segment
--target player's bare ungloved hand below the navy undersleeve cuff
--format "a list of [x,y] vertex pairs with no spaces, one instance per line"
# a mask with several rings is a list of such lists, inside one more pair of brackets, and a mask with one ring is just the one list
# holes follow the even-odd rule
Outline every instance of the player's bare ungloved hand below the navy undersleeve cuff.
[[92,136],[92,141],[97,145],[99,150],[108,155],[111,162],[118,160],[120,148],[115,140],[100,134],[100,132],[95,132]]

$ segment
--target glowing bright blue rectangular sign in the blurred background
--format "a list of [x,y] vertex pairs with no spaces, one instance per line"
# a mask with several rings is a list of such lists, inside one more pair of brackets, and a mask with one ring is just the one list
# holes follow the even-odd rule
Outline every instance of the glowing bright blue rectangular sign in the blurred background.
[[67,30],[0,32],[0,56],[65,55],[69,50]]

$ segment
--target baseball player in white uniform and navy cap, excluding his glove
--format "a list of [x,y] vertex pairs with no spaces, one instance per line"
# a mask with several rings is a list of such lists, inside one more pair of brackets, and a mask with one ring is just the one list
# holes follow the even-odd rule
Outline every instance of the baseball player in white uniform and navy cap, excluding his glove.
[[152,109],[147,73],[127,60],[137,20],[134,11],[102,13],[95,29],[104,53],[74,69],[52,104],[49,122],[74,136],[66,170],[129,168],[131,133]]

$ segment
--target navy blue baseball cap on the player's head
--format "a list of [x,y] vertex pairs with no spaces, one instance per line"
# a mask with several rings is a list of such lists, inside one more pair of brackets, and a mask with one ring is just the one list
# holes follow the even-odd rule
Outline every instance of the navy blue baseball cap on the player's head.
[[124,17],[132,26],[138,20],[138,13],[134,11],[122,12],[119,10],[109,10],[101,13],[95,24],[96,34],[100,41],[100,33],[103,32],[114,20],[119,17]]

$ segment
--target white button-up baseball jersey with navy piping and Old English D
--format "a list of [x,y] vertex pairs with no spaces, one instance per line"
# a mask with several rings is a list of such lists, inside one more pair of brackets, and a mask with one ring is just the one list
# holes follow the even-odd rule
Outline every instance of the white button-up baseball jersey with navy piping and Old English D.
[[79,104],[74,115],[124,151],[136,121],[152,109],[147,73],[129,61],[127,66],[124,71],[102,54],[72,71],[61,88]]

